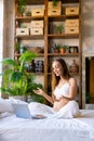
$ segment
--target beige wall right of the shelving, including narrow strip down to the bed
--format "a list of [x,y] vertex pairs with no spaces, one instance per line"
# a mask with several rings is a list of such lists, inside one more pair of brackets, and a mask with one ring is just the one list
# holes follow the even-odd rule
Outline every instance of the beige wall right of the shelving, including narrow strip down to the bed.
[[94,0],[81,0],[82,17],[82,107],[85,107],[85,57],[94,56]]

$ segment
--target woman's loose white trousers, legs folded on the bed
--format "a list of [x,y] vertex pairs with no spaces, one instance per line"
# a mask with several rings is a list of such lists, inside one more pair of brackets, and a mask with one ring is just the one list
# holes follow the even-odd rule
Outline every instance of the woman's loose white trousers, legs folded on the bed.
[[49,118],[72,118],[79,116],[79,106],[76,101],[70,101],[59,112],[55,112],[53,107],[38,102],[31,102],[28,105],[31,115],[44,115]]

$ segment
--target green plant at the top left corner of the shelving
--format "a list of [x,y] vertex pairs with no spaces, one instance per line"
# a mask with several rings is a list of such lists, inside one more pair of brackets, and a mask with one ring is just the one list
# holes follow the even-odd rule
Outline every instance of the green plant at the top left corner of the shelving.
[[18,13],[21,15],[23,15],[25,12],[25,9],[26,9],[26,0],[18,0],[18,8],[17,9],[18,9]]

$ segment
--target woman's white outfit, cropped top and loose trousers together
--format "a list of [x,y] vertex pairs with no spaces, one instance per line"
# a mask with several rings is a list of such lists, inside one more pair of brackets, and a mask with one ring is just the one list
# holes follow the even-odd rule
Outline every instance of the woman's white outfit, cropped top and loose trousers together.
[[[62,88],[55,88],[54,95],[59,100],[61,97],[68,97],[69,94],[69,84],[65,84]],[[69,101],[65,106],[63,106],[58,112],[55,112],[53,107],[38,102],[31,102],[29,104],[29,110],[32,115],[42,114],[46,115],[48,118],[73,118],[79,115],[79,105],[72,100]]]

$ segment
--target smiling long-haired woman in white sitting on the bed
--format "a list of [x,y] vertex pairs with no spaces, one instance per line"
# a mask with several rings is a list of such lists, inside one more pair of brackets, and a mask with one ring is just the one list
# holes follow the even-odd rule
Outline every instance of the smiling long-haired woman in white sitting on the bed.
[[78,91],[77,81],[69,76],[63,59],[57,59],[52,63],[52,70],[53,97],[39,88],[35,92],[53,104],[53,110],[56,112],[54,117],[72,118],[79,113],[78,103],[75,101]]

